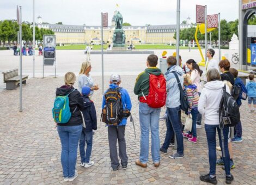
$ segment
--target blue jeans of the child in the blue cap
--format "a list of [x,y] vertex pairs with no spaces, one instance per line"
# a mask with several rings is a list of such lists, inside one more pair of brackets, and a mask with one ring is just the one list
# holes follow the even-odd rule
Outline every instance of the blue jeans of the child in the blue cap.
[[[84,147],[86,147],[86,152],[84,151]],[[79,150],[80,150],[80,157],[81,157],[81,163],[89,163],[90,162],[90,155],[92,153],[92,147],[93,147],[93,131],[86,132],[83,131],[81,133],[80,139],[79,139]]]

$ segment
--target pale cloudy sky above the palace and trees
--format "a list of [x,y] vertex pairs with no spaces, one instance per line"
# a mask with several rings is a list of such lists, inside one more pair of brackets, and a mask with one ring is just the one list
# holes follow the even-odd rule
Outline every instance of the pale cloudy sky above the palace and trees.
[[[196,22],[196,4],[207,5],[208,15],[221,13],[227,21],[239,17],[239,0],[180,1],[180,22],[187,17]],[[32,22],[33,0],[0,0],[0,20],[16,20],[17,5],[22,6],[22,21]],[[108,13],[110,26],[115,10],[132,26],[176,24],[176,0],[35,0],[35,17],[48,23],[99,26],[100,13]]]

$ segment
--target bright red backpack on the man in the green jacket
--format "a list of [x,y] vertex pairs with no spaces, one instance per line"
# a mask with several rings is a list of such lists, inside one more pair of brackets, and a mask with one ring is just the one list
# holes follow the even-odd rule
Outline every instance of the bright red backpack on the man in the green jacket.
[[153,108],[163,107],[166,104],[166,96],[166,79],[163,74],[159,76],[149,74],[149,94],[147,98],[144,96],[148,106]]

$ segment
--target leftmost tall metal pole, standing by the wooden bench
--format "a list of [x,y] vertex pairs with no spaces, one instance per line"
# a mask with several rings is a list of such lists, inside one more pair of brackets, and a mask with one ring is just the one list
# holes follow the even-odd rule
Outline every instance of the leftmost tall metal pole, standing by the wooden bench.
[[[20,16],[21,16],[21,6],[20,6]],[[20,17],[20,20],[22,20],[21,17]],[[21,32],[22,32],[22,24],[20,24],[20,112],[22,112],[22,53],[21,53],[22,33]]]

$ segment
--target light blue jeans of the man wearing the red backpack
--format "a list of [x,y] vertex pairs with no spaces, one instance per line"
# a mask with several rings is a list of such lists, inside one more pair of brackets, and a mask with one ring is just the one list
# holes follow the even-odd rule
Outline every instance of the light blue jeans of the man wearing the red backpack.
[[139,125],[141,126],[141,153],[139,161],[147,163],[149,158],[149,128],[151,130],[151,155],[154,163],[160,162],[159,115],[161,108],[139,103]]

